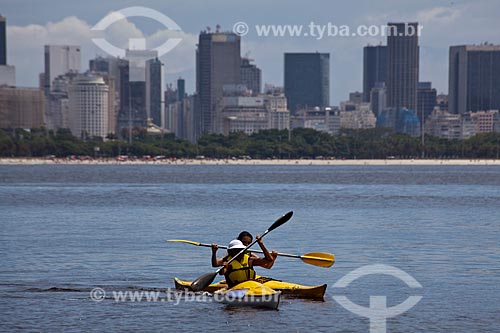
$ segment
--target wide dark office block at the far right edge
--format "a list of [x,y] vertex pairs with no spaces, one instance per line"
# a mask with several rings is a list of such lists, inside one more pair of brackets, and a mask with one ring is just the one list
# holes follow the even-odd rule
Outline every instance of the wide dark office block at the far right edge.
[[500,45],[450,47],[449,111],[500,109]]

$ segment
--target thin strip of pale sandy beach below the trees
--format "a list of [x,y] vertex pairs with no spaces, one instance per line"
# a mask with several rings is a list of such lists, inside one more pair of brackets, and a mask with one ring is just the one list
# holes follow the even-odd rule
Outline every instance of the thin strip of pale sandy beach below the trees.
[[499,165],[500,159],[164,159],[117,161],[115,158],[69,160],[65,158],[0,158],[0,165]]

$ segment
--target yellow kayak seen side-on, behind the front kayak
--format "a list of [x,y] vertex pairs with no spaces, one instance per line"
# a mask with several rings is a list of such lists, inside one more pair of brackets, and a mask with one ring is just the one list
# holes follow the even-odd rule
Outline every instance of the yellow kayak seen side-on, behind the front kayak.
[[[296,298],[307,298],[314,300],[323,300],[326,291],[326,284],[320,286],[304,286],[301,284],[283,282],[279,280],[273,280],[267,277],[257,277],[255,279],[256,282],[263,284],[264,286],[274,289],[276,291],[280,291],[283,295],[288,297],[296,297]],[[175,288],[178,290],[191,290],[191,281],[184,281],[178,278],[174,278]],[[219,281],[216,283],[212,283],[209,285],[204,291],[208,291],[209,293],[214,293],[217,290],[227,288],[226,281]]]

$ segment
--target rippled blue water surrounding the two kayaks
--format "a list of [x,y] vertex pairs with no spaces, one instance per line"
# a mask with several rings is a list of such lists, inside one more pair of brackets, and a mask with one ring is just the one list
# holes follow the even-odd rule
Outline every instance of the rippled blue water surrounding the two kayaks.
[[[258,273],[328,283],[325,302],[285,299],[279,311],[210,302],[92,301],[89,291],[161,291],[210,272],[210,249],[290,222],[265,238],[287,253],[332,252],[330,269],[280,258]],[[333,295],[388,306],[422,295],[389,332],[500,327],[500,168],[409,166],[0,166],[1,331],[368,332]],[[222,252],[221,252],[222,254]],[[386,275],[331,286],[355,268]]]

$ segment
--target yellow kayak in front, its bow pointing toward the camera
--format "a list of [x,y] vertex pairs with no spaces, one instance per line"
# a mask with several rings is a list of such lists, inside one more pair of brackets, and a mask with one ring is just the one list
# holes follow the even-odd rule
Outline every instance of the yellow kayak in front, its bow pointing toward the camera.
[[217,302],[233,306],[252,306],[278,309],[281,292],[266,287],[255,280],[244,281],[233,288],[222,288],[214,292]]

